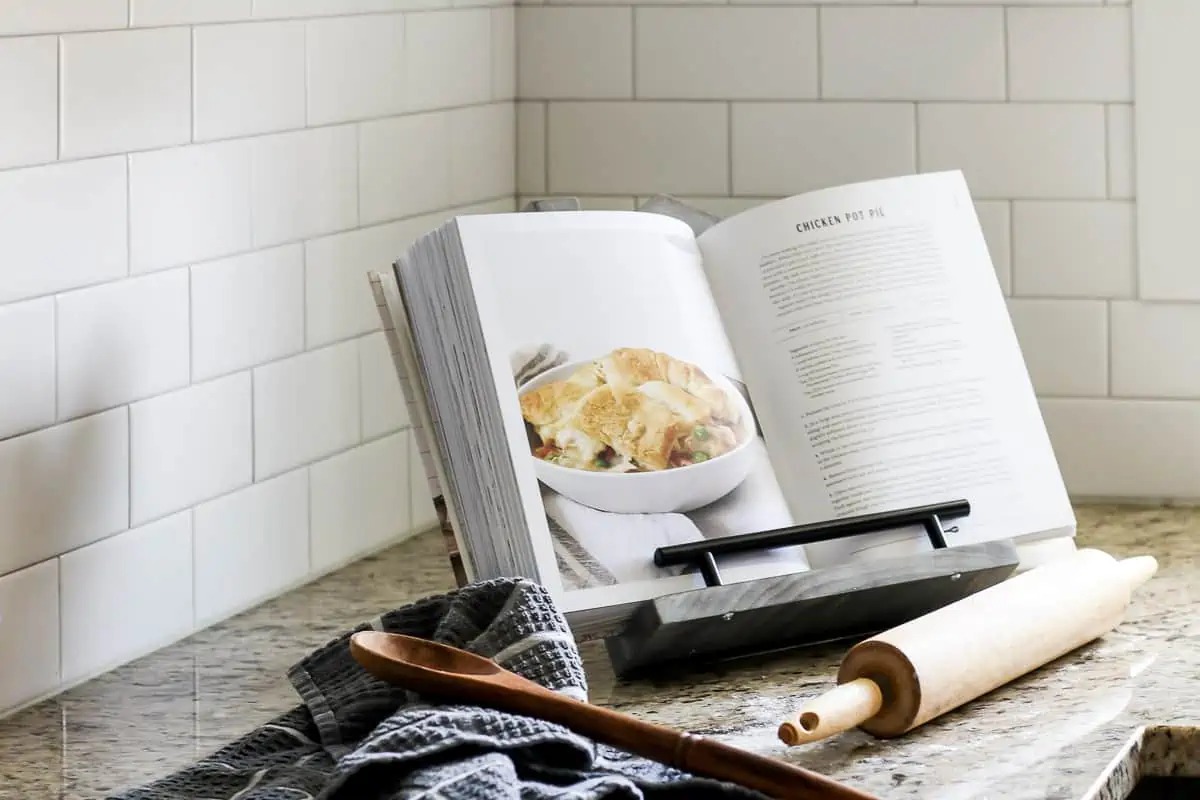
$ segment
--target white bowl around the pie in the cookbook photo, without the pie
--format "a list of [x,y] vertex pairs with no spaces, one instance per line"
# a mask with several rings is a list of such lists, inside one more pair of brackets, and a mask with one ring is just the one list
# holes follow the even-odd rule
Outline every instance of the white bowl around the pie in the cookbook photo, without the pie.
[[[564,363],[547,369],[524,383],[518,393],[564,380],[586,361]],[[738,409],[743,440],[727,453],[698,464],[674,467],[650,473],[595,473],[560,467],[538,458],[532,452],[538,479],[559,494],[600,511],[614,513],[684,512],[714,503],[746,479],[754,467],[755,437],[750,407],[742,393],[724,375],[704,369],[704,374],[720,386]]]

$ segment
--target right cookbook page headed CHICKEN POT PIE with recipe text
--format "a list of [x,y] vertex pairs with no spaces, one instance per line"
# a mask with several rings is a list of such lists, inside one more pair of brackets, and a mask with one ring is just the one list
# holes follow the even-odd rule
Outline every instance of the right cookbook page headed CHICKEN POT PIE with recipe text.
[[[952,546],[1073,533],[960,173],[772,203],[698,245],[800,522],[966,499]],[[928,547],[902,530],[808,553],[820,566]]]

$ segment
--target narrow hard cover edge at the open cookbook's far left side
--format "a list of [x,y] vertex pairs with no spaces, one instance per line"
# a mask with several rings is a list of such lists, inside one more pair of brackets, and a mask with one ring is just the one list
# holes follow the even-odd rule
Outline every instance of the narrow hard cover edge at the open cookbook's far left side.
[[400,330],[401,325],[407,326],[408,315],[403,313],[402,300],[398,293],[388,291],[385,288],[385,277],[383,275],[370,272],[367,278],[371,282],[376,309],[379,313],[384,336],[388,339],[388,349],[391,353],[392,365],[400,378],[400,387],[404,396],[404,403],[408,407],[408,419],[413,423],[412,435],[416,441],[421,468],[425,473],[425,481],[428,486],[433,510],[438,517],[438,528],[442,531],[442,540],[446,548],[450,567],[454,570],[455,582],[462,587],[469,581],[468,569],[458,545],[458,536],[455,531],[454,512],[442,489],[442,480],[439,477],[442,463],[433,443],[431,415],[425,404],[424,393],[416,384],[419,377],[415,373],[416,357],[412,342]]

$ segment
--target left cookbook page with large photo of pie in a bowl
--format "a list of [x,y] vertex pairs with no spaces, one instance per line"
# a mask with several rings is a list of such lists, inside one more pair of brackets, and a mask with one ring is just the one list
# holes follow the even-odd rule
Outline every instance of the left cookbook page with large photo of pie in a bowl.
[[[688,225],[598,211],[458,219],[539,578],[564,610],[703,585],[659,546],[792,522]],[[721,563],[727,582],[800,548]]]

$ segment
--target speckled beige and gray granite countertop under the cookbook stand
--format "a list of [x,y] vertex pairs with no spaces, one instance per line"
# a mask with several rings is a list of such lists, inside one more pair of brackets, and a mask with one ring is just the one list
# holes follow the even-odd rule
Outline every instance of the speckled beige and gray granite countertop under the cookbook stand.
[[[1159,559],[1127,621],[901,739],[776,740],[779,722],[832,685],[844,645],[623,682],[589,643],[592,700],[887,799],[1108,800],[1126,796],[1139,763],[1200,775],[1200,510],[1081,507],[1079,523],[1080,546]],[[439,536],[416,536],[2,720],[0,800],[102,798],[184,766],[294,706],[284,672],[308,650],[452,587]]]

